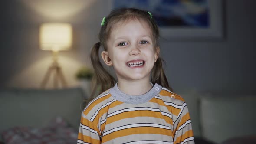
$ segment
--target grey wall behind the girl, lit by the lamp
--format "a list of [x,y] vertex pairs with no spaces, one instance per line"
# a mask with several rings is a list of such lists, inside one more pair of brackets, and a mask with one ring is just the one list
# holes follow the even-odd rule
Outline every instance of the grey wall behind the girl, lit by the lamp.
[[[225,0],[224,39],[161,39],[166,74],[176,92],[256,93],[255,4]],[[51,53],[39,49],[39,26],[44,22],[72,24],[74,44],[60,53],[59,62],[69,86],[79,85],[75,72],[81,65],[90,66],[90,47],[111,8],[108,1],[6,0],[0,5],[0,87],[39,88],[51,63]]]

